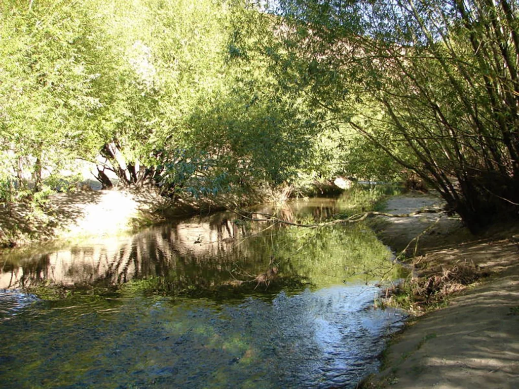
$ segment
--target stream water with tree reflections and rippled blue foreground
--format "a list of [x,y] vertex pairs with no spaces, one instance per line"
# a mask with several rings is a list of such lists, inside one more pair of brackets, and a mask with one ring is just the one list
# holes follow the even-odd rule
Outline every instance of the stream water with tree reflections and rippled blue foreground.
[[[339,200],[252,214],[320,221]],[[364,225],[232,213],[0,258],[0,387],[332,388],[376,371],[402,315]]]

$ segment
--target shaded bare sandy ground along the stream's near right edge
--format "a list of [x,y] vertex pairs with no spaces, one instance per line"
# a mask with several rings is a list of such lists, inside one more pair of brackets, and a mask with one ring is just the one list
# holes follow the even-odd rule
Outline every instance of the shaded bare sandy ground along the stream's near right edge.
[[[397,212],[405,206],[409,211],[413,204],[430,206],[430,201],[430,197],[397,197],[389,201],[388,210]],[[389,242],[400,242],[395,238],[399,230],[408,238],[409,228],[416,234],[417,227],[424,226],[418,223],[426,221],[392,223],[381,234]],[[407,326],[387,349],[385,368],[365,387],[519,387],[519,250],[515,239],[505,238],[515,231],[468,239],[459,222],[444,223],[421,247],[427,253],[420,259],[422,266],[470,262],[493,275],[454,297],[446,308]]]

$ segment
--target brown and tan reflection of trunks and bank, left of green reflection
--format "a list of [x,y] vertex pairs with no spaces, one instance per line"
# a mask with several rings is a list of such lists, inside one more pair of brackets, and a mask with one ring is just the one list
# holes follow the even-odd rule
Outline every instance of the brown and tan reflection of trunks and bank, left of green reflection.
[[45,282],[108,286],[153,277],[186,288],[212,287],[231,277],[235,262],[248,257],[247,244],[238,240],[249,230],[250,226],[236,224],[220,213],[193,223],[149,228],[115,245],[75,246],[24,258],[19,265],[7,260],[1,268],[0,287]]

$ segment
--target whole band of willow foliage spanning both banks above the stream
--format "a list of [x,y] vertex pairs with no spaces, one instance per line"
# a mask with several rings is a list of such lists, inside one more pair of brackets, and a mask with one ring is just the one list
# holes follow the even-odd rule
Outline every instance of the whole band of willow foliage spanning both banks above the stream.
[[518,7],[8,0],[2,188],[76,158],[195,197],[414,172],[473,230],[517,216]]

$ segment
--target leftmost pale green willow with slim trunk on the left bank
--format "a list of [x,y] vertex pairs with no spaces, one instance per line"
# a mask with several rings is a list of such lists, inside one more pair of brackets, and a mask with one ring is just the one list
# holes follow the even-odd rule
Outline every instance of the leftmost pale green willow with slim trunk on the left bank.
[[96,147],[91,135],[102,102],[93,85],[113,58],[91,15],[95,5],[0,5],[0,152],[4,172],[16,172],[22,185],[23,171],[39,189],[43,169],[63,168],[79,149]]

